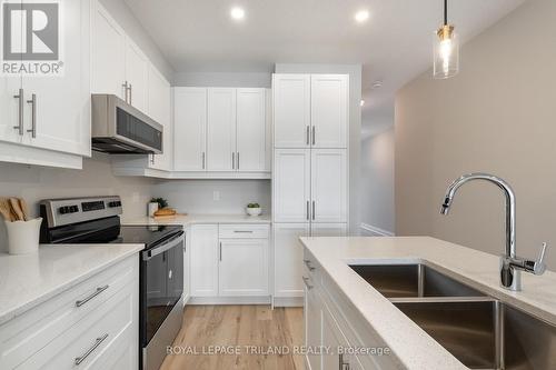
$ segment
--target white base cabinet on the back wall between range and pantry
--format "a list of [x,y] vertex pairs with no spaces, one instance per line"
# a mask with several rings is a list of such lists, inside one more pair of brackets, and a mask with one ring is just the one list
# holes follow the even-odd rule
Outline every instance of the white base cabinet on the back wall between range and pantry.
[[193,224],[189,233],[193,303],[269,296],[268,224]]

